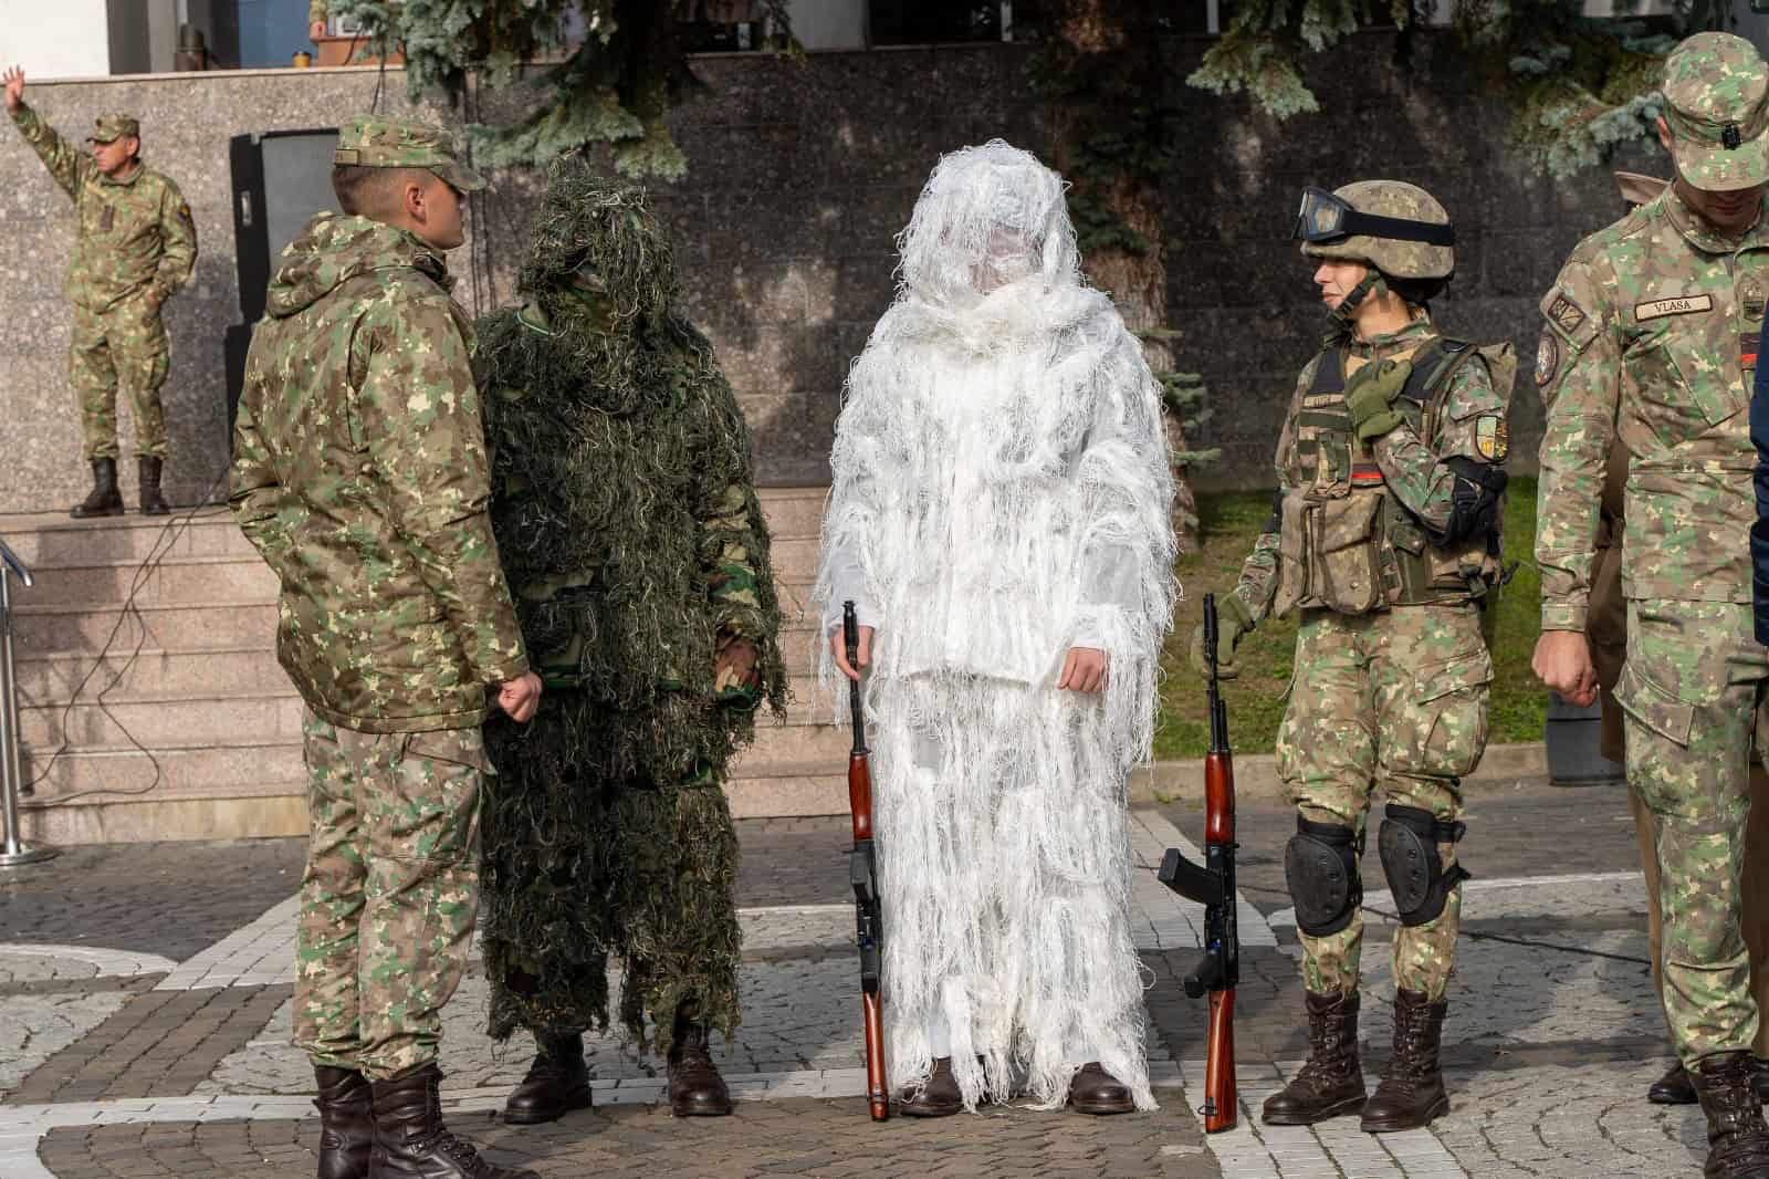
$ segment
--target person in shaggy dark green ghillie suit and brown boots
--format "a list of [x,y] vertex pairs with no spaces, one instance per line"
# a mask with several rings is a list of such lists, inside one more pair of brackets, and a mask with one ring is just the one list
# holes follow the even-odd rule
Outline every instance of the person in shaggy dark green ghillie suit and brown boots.
[[644,191],[555,163],[518,289],[478,326],[497,547],[548,687],[525,729],[486,728],[492,1036],[538,1046],[506,1119],[589,1105],[610,956],[674,1112],[729,1114],[708,1053],[739,1018],[722,786],[787,694],[748,432]]

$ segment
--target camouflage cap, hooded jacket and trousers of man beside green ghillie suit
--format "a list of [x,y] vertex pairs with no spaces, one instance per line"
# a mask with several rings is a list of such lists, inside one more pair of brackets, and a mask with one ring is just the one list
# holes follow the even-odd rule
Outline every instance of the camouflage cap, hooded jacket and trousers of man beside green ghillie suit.
[[[421,124],[354,120],[338,161],[479,184]],[[234,512],[281,579],[278,655],[310,708],[295,1039],[371,1080],[435,1057],[479,896],[486,685],[527,671],[451,285],[414,234],[315,216],[234,435]]]

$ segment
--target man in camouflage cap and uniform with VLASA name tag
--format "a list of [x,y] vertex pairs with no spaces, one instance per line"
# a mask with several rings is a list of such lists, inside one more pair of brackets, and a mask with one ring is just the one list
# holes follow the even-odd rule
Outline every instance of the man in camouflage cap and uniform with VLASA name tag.
[[1769,724],[1748,412],[1769,299],[1769,67],[1742,37],[1696,34],[1665,58],[1661,96],[1675,181],[1581,241],[1541,304],[1534,666],[1573,703],[1597,692],[1587,625],[1619,441],[1627,637],[1615,701],[1627,782],[1656,827],[1665,1021],[1707,1115],[1707,1174],[1769,1175],[1741,931],[1750,763]]

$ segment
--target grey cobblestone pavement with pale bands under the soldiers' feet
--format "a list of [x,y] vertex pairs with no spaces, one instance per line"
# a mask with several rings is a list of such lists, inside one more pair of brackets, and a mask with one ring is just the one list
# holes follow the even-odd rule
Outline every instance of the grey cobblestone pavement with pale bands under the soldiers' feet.
[[[1180,1175],[1206,1179],[1695,1175],[1702,1119],[1650,1106],[1666,1062],[1620,791],[1523,782],[1470,798],[1468,885],[1445,1030],[1452,1112],[1371,1137],[1355,1121],[1263,1128],[1307,1052],[1281,850],[1293,818],[1244,805],[1242,1119],[1201,1133],[1201,1004],[1178,979],[1196,906],[1137,878],[1150,1060],[1162,1108],[1113,1119],[991,1106],[865,1117],[846,820],[747,821],[745,1025],[720,1046],[731,1119],[676,1121],[655,1060],[589,1037],[596,1108],[540,1128],[497,1110],[527,1067],[483,1034],[478,967],[446,1014],[451,1124],[543,1175]],[[1196,811],[1139,811],[1145,869]],[[294,1179],[313,1174],[311,1071],[288,1044],[292,841],[88,848],[0,876],[0,1177]],[[71,862],[69,862],[71,860]],[[1371,862],[1366,880],[1382,883]],[[150,882],[143,889],[140,882]],[[219,883],[218,883],[219,882]],[[138,915],[127,917],[131,901]],[[1389,898],[1371,890],[1373,912]],[[1366,942],[1366,1073],[1387,1057],[1389,940]]]

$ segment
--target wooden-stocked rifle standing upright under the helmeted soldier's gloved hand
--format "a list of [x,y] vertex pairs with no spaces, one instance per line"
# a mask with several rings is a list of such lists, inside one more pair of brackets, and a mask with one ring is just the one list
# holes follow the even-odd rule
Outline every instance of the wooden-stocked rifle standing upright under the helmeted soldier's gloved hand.
[[1240,981],[1240,931],[1235,924],[1235,754],[1228,745],[1228,708],[1217,682],[1215,595],[1205,595],[1205,667],[1210,705],[1210,751],[1205,754],[1205,862],[1198,866],[1178,848],[1160,860],[1160,883],[1205,906],[1205,956],[1185,975],[1185,993],[1210,995],[1210,1032],[1205,1048],[1205,1133],[1233,1129],[1238,1119],[1235,1090],[1235,984]]

